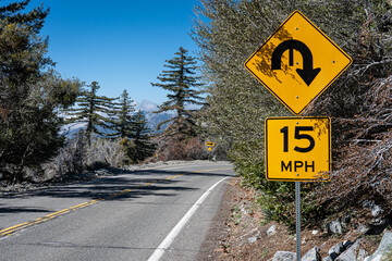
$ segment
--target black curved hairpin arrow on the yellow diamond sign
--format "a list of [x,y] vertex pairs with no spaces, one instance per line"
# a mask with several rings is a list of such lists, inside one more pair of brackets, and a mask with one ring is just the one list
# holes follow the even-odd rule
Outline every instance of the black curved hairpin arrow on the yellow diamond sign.
[[289,50],[289,64],[294,64],[293,50],[297,50],[303,55],[303,69],[297,69],[297,74],[303,78],[305,84],[309,86],[316,78],[321,69],[313,67],[313,55],[309,48],[302,41],[298,40],[285,40],[281,42],[272,52],[271,70],[281,70],[281,59],[283,52]]

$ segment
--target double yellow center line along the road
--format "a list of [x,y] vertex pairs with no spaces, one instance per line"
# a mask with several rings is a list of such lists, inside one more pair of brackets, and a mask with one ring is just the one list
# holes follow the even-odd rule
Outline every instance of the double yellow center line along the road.
[[[230,170],[230,169],[231,169],[231,167],[210,169],[210,170],[194,171],[194,172],[192,172],[192,173],[210,172],[210,171],[222,171],[222,170]],[[164,178],[163,181],[170,181],[170,179],[173,179],[173,178],[176,178],[176,177],[181,177],[181,176],[184,176],[184,175],[185,175],[185,174],[169,176],[169,177]],[[162,179],[157,179],[157,181],[155,181],[155,182],[145,183],[145,184],[142,184],[142,185],[136,186],[136,188],[138,188],[138,187],[151,186],[151,185],[154,185],[154,184],[159,183],[160,181],[162,181]],[[134,188],[133,188],[133,189],[134,189]],[[44,215],[44,216],[38,217],[38,219],[36,219],[36,220],[33,220],[33,221],[28,221],[28,222],[25,222],[25,223],[22,223],[22,224],[17,224],[17,225],[14,225],[14,226],[7,227],[7,228],[0,231],[0,237],[11,236],[12,234],[14,234],[14,233],[16,233],[16,232],[19,232],[19,231],[21,231],[21,229],[24,229],[24,228],[26,228],[26,227],[29,227],[29,226],[33,226],[33,225],[42,223],[42,222],[45,222],[45,221],[48,221],[48,220],[58,217],[58,216],[60,216],[60,215],[64,215],[64,214],[71,213],[71,212],[73,212],[73,211],[75,211],[75,210],[86,208],[86,207],[88,207],[88,206],[98,203],[98,202],[100,202],[100,201],[105,201],[105,200],[107,200],[107,199],[113,199],[113,198],[115,198],[115,197],[118,197],[118,196],[120,196],[120,195],[124,195],[124,194],[131,192],[133,189],[132,189],[132,188],[123,189],[123,190],[121,190],[121,191],[118,191],[118,192],[115,192],[115,194],[110,195],[110,196],[109,196],[108,198],[106,198],[106,199],[94,199],[94,200],[90,200],[90,201],[87,201],[87,202],[84,202],[84,203],[79,203],[79,204],[73,206],[73,207],[68,208],[68,209],[63,209],[63,210],[53,212],[53,213],[48,214],[48,215]]]

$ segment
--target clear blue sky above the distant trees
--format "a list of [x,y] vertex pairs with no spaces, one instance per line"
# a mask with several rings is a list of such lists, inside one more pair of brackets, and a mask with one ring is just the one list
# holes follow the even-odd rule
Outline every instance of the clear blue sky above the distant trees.
[[41,33],[49,36],[57,71],[97,80],[99,95],[118,97],[126,88],[137,102],[160,104],[167,92],[150,83],[164,60],[180,47],[196,55],[188,33],[197,0],[32,0],[28,7],[40,3],[50,8]]

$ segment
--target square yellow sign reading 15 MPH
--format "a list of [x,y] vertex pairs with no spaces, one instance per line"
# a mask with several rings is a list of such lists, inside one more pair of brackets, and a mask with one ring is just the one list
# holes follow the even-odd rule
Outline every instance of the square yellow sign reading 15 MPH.
[[267,117],[266,177],[269,181],[329,181],[332,170],[329,117]]

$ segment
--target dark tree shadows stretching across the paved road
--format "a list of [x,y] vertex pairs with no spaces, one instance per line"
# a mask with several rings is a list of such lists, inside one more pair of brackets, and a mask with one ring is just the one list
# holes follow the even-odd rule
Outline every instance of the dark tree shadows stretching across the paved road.
[[[184,176],[232,176],[223,172],[184,172],[172,170],[140,170],[124,171],[115,170],[113,176],[100,177],[95,181],[61,185],[39,191],[26,192],[10,198],[34,198],[34,197],[51,197],[51,198],[84,198],[86,200],[130,200],[147,196],[172,197],[181,191],[192,191],[199,188],[192,186],[182,186],[185,181],[179,181],[173,177],[176,175]],[[119,194],[120,192],[120,194]],[[5,213],[20,212],[50,212],[45,209],[35,209],[27,207],[12,208],[9,206],[0,207],[0,215]]]

